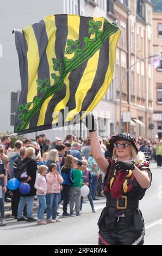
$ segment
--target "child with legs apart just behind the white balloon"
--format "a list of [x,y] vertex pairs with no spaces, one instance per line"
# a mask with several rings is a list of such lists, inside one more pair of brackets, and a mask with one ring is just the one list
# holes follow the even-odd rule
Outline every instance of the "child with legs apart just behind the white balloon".
[[[92,180],[92,176],[90,174],[90,171],[88,169],[88,161],[83,160],[83,184],[82,185],[87,185],[90,189],[90,192],[88,194],[88,199],[89,202],[91,204],[91,208],[92,208],[92,212],[96,212],[95,208],[94,208],[94,203],[93,203],[93,199],[91,196],[91,180]],[[83,204],[83,197],[81,197],[80,199],[80,211],[82,211],[82,204]]]

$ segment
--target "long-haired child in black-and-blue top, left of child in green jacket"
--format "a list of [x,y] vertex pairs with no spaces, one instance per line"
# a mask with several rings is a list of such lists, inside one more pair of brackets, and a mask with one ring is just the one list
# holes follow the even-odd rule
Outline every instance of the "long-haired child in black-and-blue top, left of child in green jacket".
[[73,156],[67,155],[65,157],[65,165],[61,169],[61,173],[63,176],[63,191],[62,198],[64,200],[63,204],[63,217],[69,217],[70,214],[67,212],[67,204],[69,203],[70,198],[70,187],[73,185],[73,177],[72,177],[72,167],[73,167]]

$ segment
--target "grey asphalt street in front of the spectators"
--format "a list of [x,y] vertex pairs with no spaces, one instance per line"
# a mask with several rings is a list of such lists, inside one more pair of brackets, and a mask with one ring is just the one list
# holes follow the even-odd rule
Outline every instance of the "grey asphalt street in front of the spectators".
[[[151,163],[152,186],[140,203],[145,218],[145,245],[162,245],[162,168]],[[97,245],[97,220],[105,205],[105,198],[95,203],[96,213],[91,212],[89,202],[83,204],[81,216],[62,218],[61,223],[37,225],[7,219],[0,227],[1,245]],[[59,209],[60,215],[62,210]],[[35,215],[36,217],[36,215]]]

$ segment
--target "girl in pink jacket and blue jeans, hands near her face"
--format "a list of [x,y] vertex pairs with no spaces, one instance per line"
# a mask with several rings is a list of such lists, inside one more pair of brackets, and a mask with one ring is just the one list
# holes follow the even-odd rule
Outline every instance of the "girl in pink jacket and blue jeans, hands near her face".
[[[57,171],[57,164],[49,164],[49,173],[46,175],[47,180],[47,223],[60,222],[57,218],[58,203],[60,198],[61,186],[63,178]],[[51,219],[52,215],[52,219]]]

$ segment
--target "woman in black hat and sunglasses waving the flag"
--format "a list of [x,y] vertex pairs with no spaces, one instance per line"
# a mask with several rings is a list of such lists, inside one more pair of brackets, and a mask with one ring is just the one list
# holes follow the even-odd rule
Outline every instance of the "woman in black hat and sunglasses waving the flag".
[[113,159],[105,159],[93,114],[86,117],[86,127],[90,130],[92,153],[104,175],[107,198],[107,205],[98,220],[98,244],[143,245],[144,219],[139,200],[151,185],[149,164],[144,154],[139,154],[135,138],[124,132],[111,136],[108,149],[113,153]]

